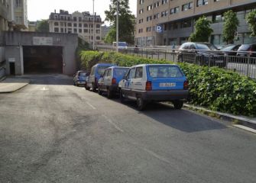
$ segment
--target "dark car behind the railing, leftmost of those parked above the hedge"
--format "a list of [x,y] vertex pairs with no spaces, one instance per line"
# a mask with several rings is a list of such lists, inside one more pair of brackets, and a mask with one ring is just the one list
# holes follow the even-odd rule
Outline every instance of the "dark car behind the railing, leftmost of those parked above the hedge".
[[210,43],[183,43],[177,51],[177,59],[179,62],[196,63],[200,66],[225,67],[224,56],[210,47],[214,48]]

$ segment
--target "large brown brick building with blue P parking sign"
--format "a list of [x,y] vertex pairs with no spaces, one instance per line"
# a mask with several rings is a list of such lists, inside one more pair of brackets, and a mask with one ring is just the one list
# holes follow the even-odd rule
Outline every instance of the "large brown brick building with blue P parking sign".
[[139,46],[180,45],[194,31],[196,20],[205,15],[212,21],[209,41],[216,45],[222,40],[225,11],[232,9],[240,22],[235,43],[256,43],[250,37],[246,15],[256,8],[255,0],[137,0],[137,30]]

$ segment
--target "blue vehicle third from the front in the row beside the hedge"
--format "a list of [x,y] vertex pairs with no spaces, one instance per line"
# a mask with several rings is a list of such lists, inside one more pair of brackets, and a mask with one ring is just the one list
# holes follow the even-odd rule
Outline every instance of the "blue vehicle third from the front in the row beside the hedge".
[[92,66],[91,74],[88,77],[88,81],[86,82],[85,88],[86,90],[89,90],[92,88],[92,92],[96,92],[96,89],[98,88],[98,81],[101,75],[103,75],[106,68],[110,66],[115,66],[110,63],[98,63],[94,66]]

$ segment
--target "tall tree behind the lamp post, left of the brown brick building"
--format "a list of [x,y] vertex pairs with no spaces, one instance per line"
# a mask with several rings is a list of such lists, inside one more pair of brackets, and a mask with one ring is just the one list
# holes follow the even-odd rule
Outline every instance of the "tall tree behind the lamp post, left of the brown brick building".
[[105,41],[112,43],[116,40],[116,7],[119,1],[119,40],[127,43],[134,43],[134,25],[135,17],[131,14],[128,0],[111,0],[109,10],[105,11],[105,21],[110,21],[112,25],[109,34],[105,37]]

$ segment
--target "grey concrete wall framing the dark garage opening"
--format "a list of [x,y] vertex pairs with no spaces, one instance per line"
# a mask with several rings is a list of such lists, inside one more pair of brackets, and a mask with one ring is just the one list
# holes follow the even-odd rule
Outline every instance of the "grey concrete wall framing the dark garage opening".
[[[50,46],[63,47],[63,74],[73,75],[76,72],[76,48],[78,45],[77,34],[56,34],[36,32],[5,32],[5,59],[7,73],[9,74],[9,61],[15,60],[15,74],[22,75],[23,71],[23,46],[35,46],[33,37],[52,37]],[[49,45],[41,45],[47,46]]]

